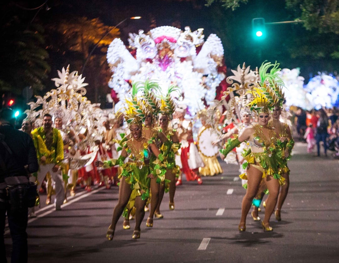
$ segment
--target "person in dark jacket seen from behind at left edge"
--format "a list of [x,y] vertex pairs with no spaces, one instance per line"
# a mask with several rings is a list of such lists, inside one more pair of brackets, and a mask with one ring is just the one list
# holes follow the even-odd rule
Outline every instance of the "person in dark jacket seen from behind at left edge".
[[[11,262],[27,262],[27,221],[28,207],[11,209],[7,202],[5,178],[27,176],[39,169],[36,150],[31,136],[14,128],[14,112],[11,109],[0,111],[0,262],[7,262],[4,230],[7,213],[13,248]],[[9,150],[12,152],[9,152]]]

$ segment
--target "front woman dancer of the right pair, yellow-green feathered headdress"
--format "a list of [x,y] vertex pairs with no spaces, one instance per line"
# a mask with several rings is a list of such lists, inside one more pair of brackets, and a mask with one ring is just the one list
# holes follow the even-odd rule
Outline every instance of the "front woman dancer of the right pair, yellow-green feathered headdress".
[[241,232],[246,230],[246,217],[262,180],[268,188],[269,195],[261,225],[264,231],[273,230],[270,226],[270,217],[277,203],[279,184],[284,183],[282,172],[279,169],[280,143],[284,139],[279,139],[275,130],[268,125],[270,109],[276,104],[276,100],[272,95],[274,93],[272,87],[266,85],[264,81],[263,83],[258,83],[258,87],[252,89],[251,92],[254,98],[249,105],[251,111],[255,111],[258,115],[258,124],[247,127],[239,136],[228,139],[225,149],[220,150],[223,155],[227,155],[228,152],[239,146],[243,141],[250,143],[251,153],[245,157],[247,160],[247,190],[242,200],[241,219],[238,226]]

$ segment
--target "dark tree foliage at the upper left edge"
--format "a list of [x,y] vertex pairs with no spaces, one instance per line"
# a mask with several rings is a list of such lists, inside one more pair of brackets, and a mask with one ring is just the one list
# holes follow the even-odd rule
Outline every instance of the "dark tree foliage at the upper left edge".
[[38,24],[25,24],[18,16],[1,24],[0,88],[21,94],[26,86],[42,90],[42,81],[50,70],[44,48],[43,28]]

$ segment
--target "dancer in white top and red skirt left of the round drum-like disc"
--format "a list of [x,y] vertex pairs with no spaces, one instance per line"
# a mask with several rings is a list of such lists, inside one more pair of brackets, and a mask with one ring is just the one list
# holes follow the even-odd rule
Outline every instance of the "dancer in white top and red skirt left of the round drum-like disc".
[[[185,174],[187,181],[197,180],[198,184],[202,184],[202,179],[197,173],[199,173],[199,167],[203,167],[204,163],[194,144],[192,121],[185,119],[186,109],[186,105],[177,105],[175,110],[177,119],[172,121],[172,127],[177,130],[177,135],[181,144],[181,170]],[[182,184],[181,175],[176,184]]]

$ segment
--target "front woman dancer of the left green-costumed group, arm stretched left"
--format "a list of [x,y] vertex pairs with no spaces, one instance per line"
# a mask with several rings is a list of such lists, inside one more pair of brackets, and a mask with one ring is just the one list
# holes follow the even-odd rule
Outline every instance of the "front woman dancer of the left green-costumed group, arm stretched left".
[[[131,197],[130,201],[132,202],[129,207],[136,207],[136,224],[132,238],[140,238],[140,225],[145,215],[144,207],[149,196],[150,180],[157,176],[157,171],[161,170],[160,164],[163,161],[163,156],[156,145],[142,137],[142,117],[136,111],[135,105],[131,102],[127,103],[128,107],[125,109],[125,118],[132,138],[124,143],[118,160],[112,159],[104,163],[98,160],[95,161],[96,166],[110,167],[118,164],[123,168],[119,184],[118,204],[114,208],[112,223],[108,227],[106,234],[108,240],[113,239],[116,224]],[[153,173],[149,167],[152,153],[157,157],[155,160],[157,166],[152,171]],[[128,157],[128,161],[124,164],[123,160],[126,157]]]

